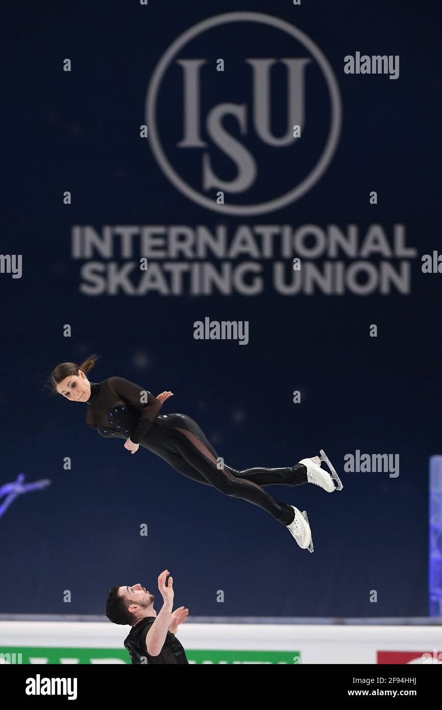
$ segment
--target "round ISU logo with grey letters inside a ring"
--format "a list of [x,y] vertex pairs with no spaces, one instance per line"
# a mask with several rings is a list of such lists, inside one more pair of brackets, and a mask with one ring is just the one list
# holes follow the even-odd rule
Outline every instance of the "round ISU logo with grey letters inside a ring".
[[155,67],[145,111],[163,173],[223,214],[298,200],[324,174],[341,131],[324,54],[291,24],[255,12],[209,18],[180,35]]

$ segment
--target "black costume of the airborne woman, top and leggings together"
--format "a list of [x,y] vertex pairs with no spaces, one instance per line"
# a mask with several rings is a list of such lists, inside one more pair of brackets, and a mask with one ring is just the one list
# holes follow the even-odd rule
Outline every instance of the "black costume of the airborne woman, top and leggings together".
[[109,377],[90,384],[86,420],[101,436],[130,437],[134,444],[140,444],[165,459],[189,479],[214,486],[226,496],[254,503],[283,525],[292,523],[292,506],[280,503],[261,486],[306,483],[306,467],[303,464],[237,471],[219,462],[219,455],[197,422],[185,414],[159,414],[162,404],[144,388],[123,377]]

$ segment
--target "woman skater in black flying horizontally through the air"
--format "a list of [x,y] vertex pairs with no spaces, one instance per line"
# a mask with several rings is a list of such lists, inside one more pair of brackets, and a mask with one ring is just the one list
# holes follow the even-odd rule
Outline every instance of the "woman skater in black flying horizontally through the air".
[[[226,496],[243,498],[260,506],[287,527],[299,547],[313,552],[306,512],[280,503],[262,486],[311,483],[329,493],[333,492],[332,476],[321,469],[319,457],[302,459],[294,466],[281,469],[232,469],[223,463],[197,422],[185,414],[159,414],[165,400],[172,397],[172,392],[162,392],[155,398],[123,377],[89,381],[86,374],[97,359],[98,356],[92,355],[81,365],[73,362],[57,365],[50,376],[51,390],[72,402],[86,403],[86,422],[101,436],[125,439],[124,447],[131,454],[142,446],[165,459],[189,479],[214,486]],[[328,459],[324,460],[337,479]]]

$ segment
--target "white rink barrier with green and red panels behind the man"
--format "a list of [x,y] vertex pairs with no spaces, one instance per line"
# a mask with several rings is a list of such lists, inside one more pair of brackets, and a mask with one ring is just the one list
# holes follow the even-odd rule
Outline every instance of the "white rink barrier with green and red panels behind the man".
[[[194,620],[177,636],[192,663],[442,663],[440,626]],[[128,630],[109,621],[1,621],[0,662],[13,662],[15,654],[34,665],[128,663],[123,648]]]

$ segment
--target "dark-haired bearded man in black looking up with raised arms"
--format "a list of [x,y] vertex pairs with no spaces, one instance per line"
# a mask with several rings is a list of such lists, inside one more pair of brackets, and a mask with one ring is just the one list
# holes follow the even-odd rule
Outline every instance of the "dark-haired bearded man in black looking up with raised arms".
[[113,586],[106,601],[109,621],[130,624],[131,632],[124,640],[131,661],[137,665],[149,663],[189,663],[186,652],[175,636],[178,626],[186,621],[189,609],[173,608],[173,578],[166,578],[168,569],[158,577],[163,604],[158,613],[153,608],[155,596],[141,584]]

